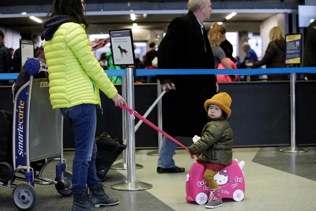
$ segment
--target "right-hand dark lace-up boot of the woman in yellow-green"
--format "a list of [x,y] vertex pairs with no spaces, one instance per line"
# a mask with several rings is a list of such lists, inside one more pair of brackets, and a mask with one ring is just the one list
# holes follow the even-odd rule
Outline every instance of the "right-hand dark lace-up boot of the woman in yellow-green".
[[110,197],[105,193],[102,183],[89,187],[90,190],[90,201],[96,207],[112,206],[119,203],[117,198],[110,199]]

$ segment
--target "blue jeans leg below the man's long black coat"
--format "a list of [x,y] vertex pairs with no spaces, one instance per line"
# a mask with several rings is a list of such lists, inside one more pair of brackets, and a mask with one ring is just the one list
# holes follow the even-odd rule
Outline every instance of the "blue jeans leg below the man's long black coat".
[[[179,141],[179,138],[180,138],[179,136],[171,136],[171,137],[177,141]],[[177,145],[178,145],[177,143],[173,142],[166,136],[163,137],[157,166],[161,168],[172,168],[176,166],[172,157],[176,150]]]

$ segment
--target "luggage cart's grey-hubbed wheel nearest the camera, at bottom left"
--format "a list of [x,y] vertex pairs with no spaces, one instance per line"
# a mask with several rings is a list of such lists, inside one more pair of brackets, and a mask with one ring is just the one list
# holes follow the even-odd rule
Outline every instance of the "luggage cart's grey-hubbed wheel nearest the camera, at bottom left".
[[19,210],[31,210],[37,204],[37,193],[35,188],[28,183],[20,183],[12,191],[15,207]]

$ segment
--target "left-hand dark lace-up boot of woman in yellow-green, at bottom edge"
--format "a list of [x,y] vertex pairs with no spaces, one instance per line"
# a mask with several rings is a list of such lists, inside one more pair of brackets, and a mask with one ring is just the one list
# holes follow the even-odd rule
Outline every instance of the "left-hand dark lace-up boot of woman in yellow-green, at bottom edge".
[[94,205],[90,202],[88,198],[88,188],[82,190],[82,191],[72,191],[74,196],[74,201],[72,202],[72,208],[71,211],[90,211],[90,210],[96,210],[96,211],[107,211],[105,208],[97,208],[94,207]]

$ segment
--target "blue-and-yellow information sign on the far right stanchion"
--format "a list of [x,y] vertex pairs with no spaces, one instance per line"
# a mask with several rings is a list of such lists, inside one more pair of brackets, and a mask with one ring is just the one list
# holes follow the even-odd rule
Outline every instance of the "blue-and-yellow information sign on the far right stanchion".
[[285,64],[301,64],[302,34],[287,34],[285,36]]

